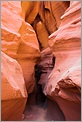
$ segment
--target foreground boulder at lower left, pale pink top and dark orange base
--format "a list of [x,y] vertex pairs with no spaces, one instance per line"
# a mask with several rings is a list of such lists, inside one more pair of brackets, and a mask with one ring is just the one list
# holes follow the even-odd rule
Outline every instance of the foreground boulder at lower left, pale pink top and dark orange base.
[[1,53],[1,119],[22,120],[27,101],[27,91],[23,73],[18,62]]

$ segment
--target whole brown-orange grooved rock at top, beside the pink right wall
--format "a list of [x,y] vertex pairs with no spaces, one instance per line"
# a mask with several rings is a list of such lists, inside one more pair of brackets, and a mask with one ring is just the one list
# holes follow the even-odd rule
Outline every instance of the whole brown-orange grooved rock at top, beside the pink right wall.
[[39,15],[49,34],[52,34],[59,28],[60,17],[68,6],[69,2],[65,1],[41,1]]

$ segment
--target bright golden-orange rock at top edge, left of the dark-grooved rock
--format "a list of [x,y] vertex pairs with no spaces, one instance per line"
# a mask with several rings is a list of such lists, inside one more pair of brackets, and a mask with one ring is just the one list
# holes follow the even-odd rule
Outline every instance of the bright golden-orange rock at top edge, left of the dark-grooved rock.
[[40,2],[36,1],[30,1],[25,2],[22,1],[22,10],[23,10],[23,16],[25,18],[25,21],[32,24],[34,19],[36,18],[38,11],[39,11],[39,5]]

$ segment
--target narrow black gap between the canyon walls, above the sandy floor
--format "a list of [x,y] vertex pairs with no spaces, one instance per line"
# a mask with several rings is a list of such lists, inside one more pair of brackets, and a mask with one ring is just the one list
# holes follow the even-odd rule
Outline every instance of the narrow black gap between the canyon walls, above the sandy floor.
[[38,84],[40,76],[42,74],[41,67],[37,64],[35,65],[35,88],[34,91],[28,95],[27,104],[43,106],[46,100],[46,96],[42,91],[42,85]]

